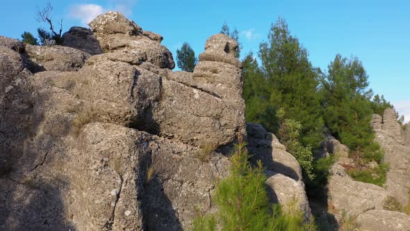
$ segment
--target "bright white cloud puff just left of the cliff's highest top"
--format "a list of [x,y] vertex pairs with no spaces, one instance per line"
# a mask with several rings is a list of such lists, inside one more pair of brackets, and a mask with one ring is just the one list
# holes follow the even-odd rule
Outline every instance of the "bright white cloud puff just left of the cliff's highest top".
[[72,6],[69,17],[80,19],[83,24],[88,24],[98,15],[104,13],[104,8],[96,4],[81,4]]

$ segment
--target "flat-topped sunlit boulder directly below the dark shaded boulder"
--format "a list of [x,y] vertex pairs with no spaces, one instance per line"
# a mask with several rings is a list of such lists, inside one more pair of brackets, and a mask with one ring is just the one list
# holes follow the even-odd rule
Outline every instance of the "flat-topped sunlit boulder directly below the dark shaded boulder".
[[62,46],[35,46],[26,45],[26,56],[30,61],[36,63],[44,70],[76,71],[83,67],[90,54]]

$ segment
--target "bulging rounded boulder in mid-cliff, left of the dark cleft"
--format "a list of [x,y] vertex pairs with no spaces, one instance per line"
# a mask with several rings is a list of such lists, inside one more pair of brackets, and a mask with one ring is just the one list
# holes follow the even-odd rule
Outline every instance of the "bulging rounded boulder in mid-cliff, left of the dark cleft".
[[151,120],[147,110],[161,96],[161,77],[122,62],[95,62],[77,76],[76,94],[87,102],[92,120],[138,127]]

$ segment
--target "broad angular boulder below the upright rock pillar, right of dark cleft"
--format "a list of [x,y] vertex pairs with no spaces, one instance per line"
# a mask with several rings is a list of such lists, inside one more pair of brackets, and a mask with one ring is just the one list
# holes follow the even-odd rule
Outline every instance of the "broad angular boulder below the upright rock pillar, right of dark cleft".
[[213,149],[231,143],[245,123],[244,111],[233,104],[166,79],[153,118],[162,136]]

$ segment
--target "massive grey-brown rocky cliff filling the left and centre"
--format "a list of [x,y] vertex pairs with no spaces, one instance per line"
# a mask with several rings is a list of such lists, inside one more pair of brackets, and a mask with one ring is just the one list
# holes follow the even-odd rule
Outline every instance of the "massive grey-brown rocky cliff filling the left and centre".
[[189,228],[215,211],[238,133],[272,201],[310,214],[295,158],[245,125],[234,40],[211,36],[193,73],[172,72],[161,35],[115,12],[90,27],[64,47],[0,37],[0,230]]

